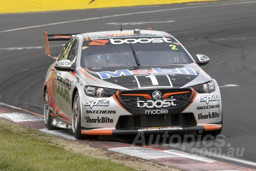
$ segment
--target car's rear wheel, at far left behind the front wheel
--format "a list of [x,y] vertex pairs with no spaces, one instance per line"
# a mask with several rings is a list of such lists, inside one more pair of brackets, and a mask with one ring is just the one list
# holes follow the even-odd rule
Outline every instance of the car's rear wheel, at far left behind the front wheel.
[[45,101],[44,101],[44,115],[45,115],[45,124],[48,130],[56,130],[57,127],[53,126],[51,123],[51,114],[50,114],[50,104],[49,104],[49,94],[48,90],[45,93]]

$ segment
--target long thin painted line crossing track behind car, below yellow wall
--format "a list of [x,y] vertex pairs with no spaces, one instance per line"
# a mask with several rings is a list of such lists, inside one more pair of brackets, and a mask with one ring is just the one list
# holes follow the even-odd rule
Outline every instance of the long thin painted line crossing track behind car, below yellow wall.
[[11,29],[11,30],[4,30],[4,31],[0,31],[0,33],[11,32],[11,31],[18,31],[18,30],[26,30],[26,29],[32,29],[32,28],[38,28],[38,27],[45,27],[45,26],[54,26],[54,25],[67,24],[67,23],[85,22],[85,21],[88,21],[88,20],[96,20],[96,19],[103,19],[103,18],[112,18],[112,17],[119,17],[119,16],[127,16],[127,15],[147,14],[147,13],[165,12],[165,11],[175,11],[175,10],[184,10],[184,9],[193,9],[193,8],[205,8],[205,7],[218,7],[218,6],[227,6],[227,5],[251,4],[251,3],[256,3],[256,1],[252,1],[252,2],[241,2],[241,3],[227,3],[227,4],[203,5],[203,6],[194,6],[194,7],[182,7],[182,8],[173,8],[173,9],[164,9],[164,10],[141,11],[141,12],[132,12],[132,13],[125,13],[125,14],[106,15],[106,16],[100,16],[100,17],[76,19],[76,20],[70,20],[70,21],[65,21],[65,22],[50,23],[50,24],[45,24],[45,25],[36,25],[36,26],[22,27],[22,28]]

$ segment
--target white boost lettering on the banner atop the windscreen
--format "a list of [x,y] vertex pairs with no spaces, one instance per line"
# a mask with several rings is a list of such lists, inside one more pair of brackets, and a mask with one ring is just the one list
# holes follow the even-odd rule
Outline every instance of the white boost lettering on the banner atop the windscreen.
[[110,42],[113,45],[120,44],[148,44],[148,43],[161,43],[161,42],[172,42],[170,38],[162,37],[162,38],[127,38],[127,39],[113,39],[110,38]]

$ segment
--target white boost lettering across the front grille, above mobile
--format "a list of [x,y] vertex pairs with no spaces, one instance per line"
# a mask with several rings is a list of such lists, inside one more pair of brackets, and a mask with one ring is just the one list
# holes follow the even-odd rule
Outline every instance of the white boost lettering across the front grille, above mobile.
[[171,96],[171,98],[167,98],[164,100],[140,100],[137,97],[137,106],[139,108],[167,108],[169,106],[175,106],[176,104],[174,103],[176,99]]

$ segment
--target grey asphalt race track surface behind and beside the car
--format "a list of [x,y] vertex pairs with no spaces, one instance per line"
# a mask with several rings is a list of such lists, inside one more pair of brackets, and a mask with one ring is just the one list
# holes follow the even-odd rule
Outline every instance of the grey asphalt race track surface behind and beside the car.
[[[44,52],[43,31],[51,34],[119,30],[119,23],[123,23],[123,29],[151,27],[163,30],[177,37],[191,55],[209,56],[209,64],[202,68],[221,86],[224,114],[221,149],[222,154],[231,158],[209,158],[253,168],[241,161],[256,162],[255,9],[256,1],[221,1],[2,14],[0,102],[42,113],[42,84],[48,66],[53,62]],[[61,44],[54,42],[51,45],[51,53],[56,56]],[[117,138],[126,141],[122,137]],[[207,144],[211,143],[219,142],[207,139]],[[189,143],[185,145],[189,147]],[[182,147],[176,146],[177,149]],[[196,147],[200,150],[207,145],[199,143]],[[240,151],[236,153],[238,148]],[[189,148],[183,150],[191,152]],[[231,150],[234,154],[230,153]]]

